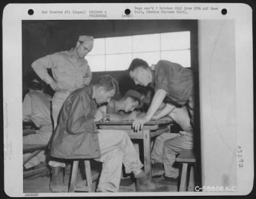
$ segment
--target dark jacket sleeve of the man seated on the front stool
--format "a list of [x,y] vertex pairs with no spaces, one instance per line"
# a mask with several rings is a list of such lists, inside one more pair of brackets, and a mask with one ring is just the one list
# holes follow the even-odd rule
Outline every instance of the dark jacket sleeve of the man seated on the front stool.
[[67,132],[70,134],[81,134],[95,129],[93,116],[90,115],[90,103],[88,97],[77,95],[73,100],[67,119]]

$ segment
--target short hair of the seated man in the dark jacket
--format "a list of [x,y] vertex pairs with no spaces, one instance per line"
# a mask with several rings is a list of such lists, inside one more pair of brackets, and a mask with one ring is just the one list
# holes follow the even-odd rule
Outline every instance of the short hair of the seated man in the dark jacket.
[[106,88],[107,91],[115,89],[116,93],[119,92],[118,81],[116,81],[114,77],[109,75],[100,76],[95,86],[102,86]]

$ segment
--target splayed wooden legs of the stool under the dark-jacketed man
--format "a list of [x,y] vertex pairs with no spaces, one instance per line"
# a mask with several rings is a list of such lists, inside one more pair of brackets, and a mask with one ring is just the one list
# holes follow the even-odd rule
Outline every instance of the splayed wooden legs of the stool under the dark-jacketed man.
[[92,182],[99,178],[99,173],[95,173],[92,176],[90,159],[85,159],[83,161],[83,163],[84,163],[84,168],[85,168],[85,173],[86,173],[86,180],[76,183],[79,160],[73,161],[70,187],[68,190],[68,192],[70,192],[70,193],[73,193],[75,191],[94,192],[93,188],[92,188]]

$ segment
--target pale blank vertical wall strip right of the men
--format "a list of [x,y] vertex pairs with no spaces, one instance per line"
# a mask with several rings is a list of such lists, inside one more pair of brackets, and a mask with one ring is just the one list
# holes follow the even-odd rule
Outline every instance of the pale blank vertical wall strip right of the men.
[[198,22],[203,186],[236,186],[234,25],[234,20]]

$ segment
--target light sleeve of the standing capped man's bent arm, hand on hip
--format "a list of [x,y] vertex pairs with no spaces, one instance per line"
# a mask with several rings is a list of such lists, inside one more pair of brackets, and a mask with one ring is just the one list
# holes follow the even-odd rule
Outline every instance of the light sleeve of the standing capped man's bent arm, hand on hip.
[[38,60],[34,61],[31,65],[33,70],[35,70],[36,74],[43,80],[45,83],[50,84],[53,79],[48,74],[47,68],[56,67],[56,63],[58,62],[58,54],[49,54]]

